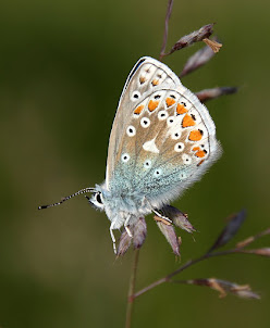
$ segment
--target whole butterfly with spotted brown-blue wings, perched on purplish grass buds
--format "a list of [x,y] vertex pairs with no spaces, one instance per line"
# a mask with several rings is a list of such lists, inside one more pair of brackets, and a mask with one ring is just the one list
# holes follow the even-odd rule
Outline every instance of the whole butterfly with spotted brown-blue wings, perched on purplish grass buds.
[[144,56],[122,91],[111,129],[106,180],[60,202],[91,192],[105,211],[116,252],[114,229],[132,227],[150,213],[171,223],[162,207],[197,181],[221,154],[216,126],[198,98],[163,63]]

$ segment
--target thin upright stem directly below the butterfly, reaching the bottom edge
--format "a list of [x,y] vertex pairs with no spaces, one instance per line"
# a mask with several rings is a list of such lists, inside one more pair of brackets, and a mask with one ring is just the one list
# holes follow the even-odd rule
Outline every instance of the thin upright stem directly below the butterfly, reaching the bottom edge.
[[135,291],[136,275],[138,268],[138,255],[139,255],[139,249],[134,250],[134,260],[132,265],[132,273],[131,273],[128,294],[127,294],[125,328],[131,328],[132,326],[132,314],[133,314],[134,300],[135,300],[134,291]]

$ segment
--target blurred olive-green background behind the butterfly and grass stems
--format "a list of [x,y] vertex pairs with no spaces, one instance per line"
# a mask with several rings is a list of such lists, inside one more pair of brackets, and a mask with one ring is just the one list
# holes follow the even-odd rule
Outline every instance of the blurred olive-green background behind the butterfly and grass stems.
[[[158,58],[165,0],[2,0],[0,4],[0,326],[123,327],[132,252],[115,261],[109,222],[84,197],[37,211],[105,178],[110,128],[125,78],[142,55]],[[269,226],[270,2],[175,1],[169,46],[217,22],[222,51],[183,83],[193,91],[241,86],[208,104],[224,154],[174,204],[200,231],[182,232],[182,262],[246,207],[238,239]],[[180,73],[202,45],[165,63]],[[138,288],[179,263],[149,217]],[[266,237],[257,245],[269,245]],[[160,286],[138,299],[134,327],[269,327],[268,258],[212,258],[183,278],[250,283],[261,301],[219,300],[207,288]]]

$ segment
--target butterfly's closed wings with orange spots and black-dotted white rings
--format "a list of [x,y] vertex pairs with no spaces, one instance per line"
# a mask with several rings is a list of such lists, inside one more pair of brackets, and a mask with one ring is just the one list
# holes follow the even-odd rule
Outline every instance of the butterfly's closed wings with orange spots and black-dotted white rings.
[[[110,140],[107,184],[158,203],[177,197],[201,176],[220,147],[207,109],[164,64],[148,61],[124,88]],[[134,94],[138,97],[133,101]]]

